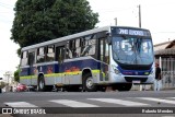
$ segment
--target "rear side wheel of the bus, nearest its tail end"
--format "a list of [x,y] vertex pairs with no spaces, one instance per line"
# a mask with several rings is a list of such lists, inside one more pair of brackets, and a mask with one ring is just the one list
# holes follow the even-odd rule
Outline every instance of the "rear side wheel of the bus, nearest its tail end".
[[39,92],[46,91],[46,85],[45,85],[44,75],[39,75],[37,86],[38,86],[38,91],[39,91]]

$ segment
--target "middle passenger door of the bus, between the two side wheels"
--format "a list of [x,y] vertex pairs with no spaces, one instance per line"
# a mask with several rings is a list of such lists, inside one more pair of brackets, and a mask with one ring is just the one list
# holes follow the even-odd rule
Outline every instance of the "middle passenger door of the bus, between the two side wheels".
[[65,59],[65,46],[56,47],[56,60],[58,61],[58,67],[57,67],[58,75],[56,78],[56,83],[60,85],[63,84],[63,79],[65,79],[63,59]]

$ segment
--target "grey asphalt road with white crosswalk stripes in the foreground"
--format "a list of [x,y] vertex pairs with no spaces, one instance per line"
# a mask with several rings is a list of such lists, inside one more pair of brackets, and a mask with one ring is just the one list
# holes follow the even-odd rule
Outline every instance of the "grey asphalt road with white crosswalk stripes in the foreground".
[[42,117],[175,117],[175,91],[2,93],[0,107],[39,108]]

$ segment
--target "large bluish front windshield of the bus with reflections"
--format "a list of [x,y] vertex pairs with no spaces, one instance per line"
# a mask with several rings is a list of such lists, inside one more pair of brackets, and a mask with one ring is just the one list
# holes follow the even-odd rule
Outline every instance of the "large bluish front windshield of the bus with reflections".
[[113,58],[125,65],[151,65],[153,62],[153,47],[151,38],[114,36]]

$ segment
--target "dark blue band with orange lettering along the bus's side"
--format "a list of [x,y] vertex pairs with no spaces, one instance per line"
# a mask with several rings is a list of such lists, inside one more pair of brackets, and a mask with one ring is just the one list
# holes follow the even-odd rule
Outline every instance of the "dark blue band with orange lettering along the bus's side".
[[84,68],[96,70],[101,68],[101,62],[94,59],[85,59],[85,60],[69,61],[69,62],[63,62],[63,63],[50,63],[50,65],[43,63],[37,67],[31,67],[31,70],[30,70],[30,67],[22,68],[20,74],[21,77],[25,77],[25,75],[34,75],[34,74],[37,74],[38,72],[43,72],[44,74],[61,73],[61,72],[66,72],[67,70],[82,71]]

